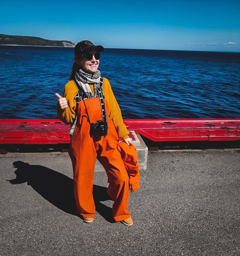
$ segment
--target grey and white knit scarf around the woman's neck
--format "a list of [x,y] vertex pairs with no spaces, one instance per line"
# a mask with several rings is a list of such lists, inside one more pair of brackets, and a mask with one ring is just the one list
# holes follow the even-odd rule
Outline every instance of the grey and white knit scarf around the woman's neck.
[[[80,68],[79,71],[76,72],[75,74],[76,82],[83,89],[87,99],[98,97],[97,88],[100,86],[99,85],[100,78],[101,78],[101,72],[99,69],[97,69],[96,72],[91,74],[91,73],[87,73],[82,68]],[[91,92],[89,84],[93,84],[94,96],[93,96],[93,93]],[[85,95],[84,95],[84,98],[85,98]]]

